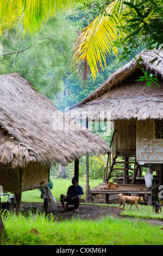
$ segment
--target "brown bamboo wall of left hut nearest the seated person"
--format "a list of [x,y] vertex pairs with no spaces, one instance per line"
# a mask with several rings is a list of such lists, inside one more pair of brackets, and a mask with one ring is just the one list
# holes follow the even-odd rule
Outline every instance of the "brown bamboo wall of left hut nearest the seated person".
[[43,166],[39,162],[30,162],[27,167],[22,169],[22,191],[40,187],[42,181],[48,184],[49,167]]

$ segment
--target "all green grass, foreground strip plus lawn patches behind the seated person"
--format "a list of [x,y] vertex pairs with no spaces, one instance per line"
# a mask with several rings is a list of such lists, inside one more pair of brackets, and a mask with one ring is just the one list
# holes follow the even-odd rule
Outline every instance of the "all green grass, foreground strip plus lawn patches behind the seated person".
[[[52,192],[57,201],[60,194],[66,194],[71,180],[52,179]],[[95,187],[102,180],[90,180],[90,187]],[[86,191],[86,180],[80,178],[80,186]],[[84,198],[85,196],[83,196]],[[41,202],[40,191],[33,190],[22,193],[22,202]],[[118,205],[99,204],[105,207]],[[152,206],[140,205],[140,211],[133,205],[131,211],[126,205],[122,216],[135,218],[104,217],[97,221],[72,220],[57,222],[53,216],[45,217],[36,213],[29,216],[16,215],[15,212],[3,216],[7,232],[2,237],[2,245],[163,245],[163,230],[160,226],[146,223],[148,218],[163,218],[162,214],[152,212]],[[93,206],[92,206],[93,208]],[[122,208],[122,206],[121,206]],[[163,224],[162,224],[163,227]],[[35,228],[39,234],[31,233]]]

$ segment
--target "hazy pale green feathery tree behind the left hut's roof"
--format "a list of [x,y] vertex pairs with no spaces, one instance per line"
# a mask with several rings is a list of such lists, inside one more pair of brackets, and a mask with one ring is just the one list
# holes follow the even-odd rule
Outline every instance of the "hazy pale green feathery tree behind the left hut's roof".
[[70,70],[70,46],[75,35],[64,16],[47,22],[32,38],[27,34],[22,38],[14,28],[6,31],[0,36],[0,74],[18,72],[54,102],[54,93],[61,90],[62,78]]

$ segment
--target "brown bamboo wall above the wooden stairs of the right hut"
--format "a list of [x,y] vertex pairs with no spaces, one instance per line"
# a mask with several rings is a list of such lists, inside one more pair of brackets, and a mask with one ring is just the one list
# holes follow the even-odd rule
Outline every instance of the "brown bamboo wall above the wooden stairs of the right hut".
[[122,120],[114,122],[115,150],[120,151],[122,154],[126,151],[136,152],[136,120]]

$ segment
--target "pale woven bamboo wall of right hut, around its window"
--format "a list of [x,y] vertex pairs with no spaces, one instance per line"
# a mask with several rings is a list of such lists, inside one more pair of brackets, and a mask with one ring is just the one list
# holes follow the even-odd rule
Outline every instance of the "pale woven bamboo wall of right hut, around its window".
[[137,161],[162,163],[163,139],[155,138],[155,120],[137,121],[136,129]]

